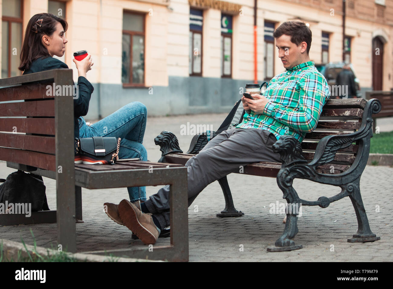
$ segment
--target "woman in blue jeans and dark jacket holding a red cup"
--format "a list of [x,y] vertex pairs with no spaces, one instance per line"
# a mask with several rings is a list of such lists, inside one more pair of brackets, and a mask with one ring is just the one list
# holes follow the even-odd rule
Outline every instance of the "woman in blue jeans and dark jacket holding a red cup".
[[[23,74],[29,74],[56,68],[68,68],[64,62],[53,58],[54,55],[57,57],[64,55],[65,45],[68,42],[64,35],[67,28],[68,24],[64,19],[50,13],[39,13],[31,17],[20,53],[19,70],[23,71]],[[75,138],[90,138],[92,136],[121,138],[120,159],[140,158],[147,160],[147,151],[142,145],[146,128],[145,105],[137,101],[129,103],[97,123],[87,125],[82,116],[88,112],[94,88],[86,79],[86,72],[92,69],[93,61],[91,55],[88,54],[83,60],[73,59],[73,62],[78,70],[77,92],[79,91],[79,95],[73,100]],[[127,190],[131,202],[146,200],[145,187],[132,187]],[[117,205],[107,205],[108,209],[117,212]]]

